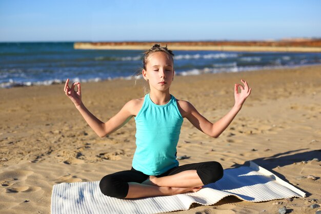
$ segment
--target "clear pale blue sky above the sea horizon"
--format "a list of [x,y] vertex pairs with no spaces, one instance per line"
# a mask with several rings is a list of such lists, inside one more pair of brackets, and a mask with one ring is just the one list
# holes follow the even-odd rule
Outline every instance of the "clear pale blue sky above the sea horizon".
[[320,0],[0,0],[0,42],[321,37]]

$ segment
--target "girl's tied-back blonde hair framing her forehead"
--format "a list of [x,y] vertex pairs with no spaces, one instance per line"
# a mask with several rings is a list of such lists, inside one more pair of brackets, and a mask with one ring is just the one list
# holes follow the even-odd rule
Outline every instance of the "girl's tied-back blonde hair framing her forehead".
[[[146,65],[149,61],[149,57],[152,53],[155,53],[155,52],[165,52],[167,53],[167,55],[172,59],[172,62],[173,62],[173,65],[174,65],[174,59],[173,59],[173,56],[174,56],[174,53],[167,49],[167,45],[165,47],[160,47],[159,44],[155,44],[153,45],[153,47],[151,47],[149,50],[145,51],[144,52],[144,56],[143,56],[143,69],[146,70]],[[137,72],[136,74],[136,78],[135,78],[135,85],[136,85],[136,80],[137,80],[137,76],[141,75],[143,73],[142,69],[139,69],[139,73]],[[144,93],[145,95],[147,93],[149,93],[148,91],[148,87],[144,86]]]

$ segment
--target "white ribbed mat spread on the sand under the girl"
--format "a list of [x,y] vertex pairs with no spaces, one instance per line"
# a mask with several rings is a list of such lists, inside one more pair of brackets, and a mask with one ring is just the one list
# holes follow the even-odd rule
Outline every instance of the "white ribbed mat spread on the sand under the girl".
[[175,196],[125,200],[104,196],[99,189],[99,181],[56,184],[52,189],[51,214],[162,213],[187,210],[192,203],[212,205],[227,196],[262,202],[305,195],[275,174],[250,162],[250,166],[224,170],[221,180],[204,186],[198,192]]

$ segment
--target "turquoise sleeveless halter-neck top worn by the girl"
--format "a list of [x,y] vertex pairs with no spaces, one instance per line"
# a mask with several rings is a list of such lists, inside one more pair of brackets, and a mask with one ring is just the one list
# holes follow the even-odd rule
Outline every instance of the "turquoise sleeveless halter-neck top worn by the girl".
[[136,122],[136,151],[132,167],[149,176],[157,176],[178,166],[176,146],[183,117],[176,99],[165,105],[156,105],[145,95],[144,103],[134,117]]

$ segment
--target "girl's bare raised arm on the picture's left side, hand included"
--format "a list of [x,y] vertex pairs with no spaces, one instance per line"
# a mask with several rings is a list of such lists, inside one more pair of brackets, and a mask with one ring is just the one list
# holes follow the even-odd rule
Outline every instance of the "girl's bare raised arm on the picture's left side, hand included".
[[[67,79],[64,91],[70,100],[74,103],[76,109],[82,114],[88,125],[96,132],[96,134],[103,138],[106,135],[116,131],[124,126],[133,116],[131,109],[134,107],[134,100],[127,102],[124,107],[114,115],[109,121],[103,123],[97,119],[83,104],[80,83],[73,83],[71,88],[68,86],[69,79]],[[75,85],[78,91],[74,90]]]

